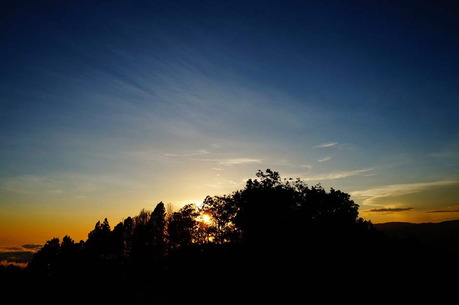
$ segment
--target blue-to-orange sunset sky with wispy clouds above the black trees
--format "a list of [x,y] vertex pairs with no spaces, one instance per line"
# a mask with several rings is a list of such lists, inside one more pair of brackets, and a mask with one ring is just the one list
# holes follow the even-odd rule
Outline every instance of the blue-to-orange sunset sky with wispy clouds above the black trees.
[[2,4],[0,246],[267,168],[374,223],[459,219],[457,7],[91,2]]

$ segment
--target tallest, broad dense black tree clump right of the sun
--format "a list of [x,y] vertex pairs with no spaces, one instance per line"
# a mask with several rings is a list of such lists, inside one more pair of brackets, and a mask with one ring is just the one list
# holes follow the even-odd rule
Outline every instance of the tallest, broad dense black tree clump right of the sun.
[[[280,178],[270,169],[259,171],[233,194],[237,213],[234,223],[250,243],[301,239],[308,231],[322,234],[355,226],[359,206],[350,195],[320,185],[308,187],[302,180]],[[320,229],[312,229],[321,227]]]

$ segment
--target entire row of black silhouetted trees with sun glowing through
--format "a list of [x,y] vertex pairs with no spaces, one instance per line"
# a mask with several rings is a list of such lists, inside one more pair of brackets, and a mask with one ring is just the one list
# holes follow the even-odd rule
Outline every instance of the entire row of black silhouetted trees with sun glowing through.
[[107,219],[97,222],[86,241],[75,243],[69,236],[62,242],[49,240],[26,271],[44,277],[101,269],[164,271],[190,249],[270,248],[263,253],[267,256],[320,245],[315,251],[321,252],[324,247],[357,247],[376,234],[370,222],[358,217],[359,206],[347,193],[308,187],[300,179],[282,180],[269,169],[256,175],[244,189],[207,196],[200,207],[188,204],[174,211],[160,202],[113,229]]

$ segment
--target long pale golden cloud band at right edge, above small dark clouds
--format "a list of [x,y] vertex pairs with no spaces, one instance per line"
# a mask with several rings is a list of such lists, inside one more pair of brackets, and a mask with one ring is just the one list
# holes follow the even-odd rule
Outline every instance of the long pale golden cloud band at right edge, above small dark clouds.
[[389,197],[389,196],[400,196],[411,193],[423,191],[429,187],[449,186],[458,184],[458,180],[448,181],[433,181],[433,182],[421,182],[421,183],[402,183],[402,184],[391,184],[379,188],[362,190],[362,191],[351,191],[350,194],[359,199],[364,199],[363,203],[371,204],[371,202],[377,198]]

